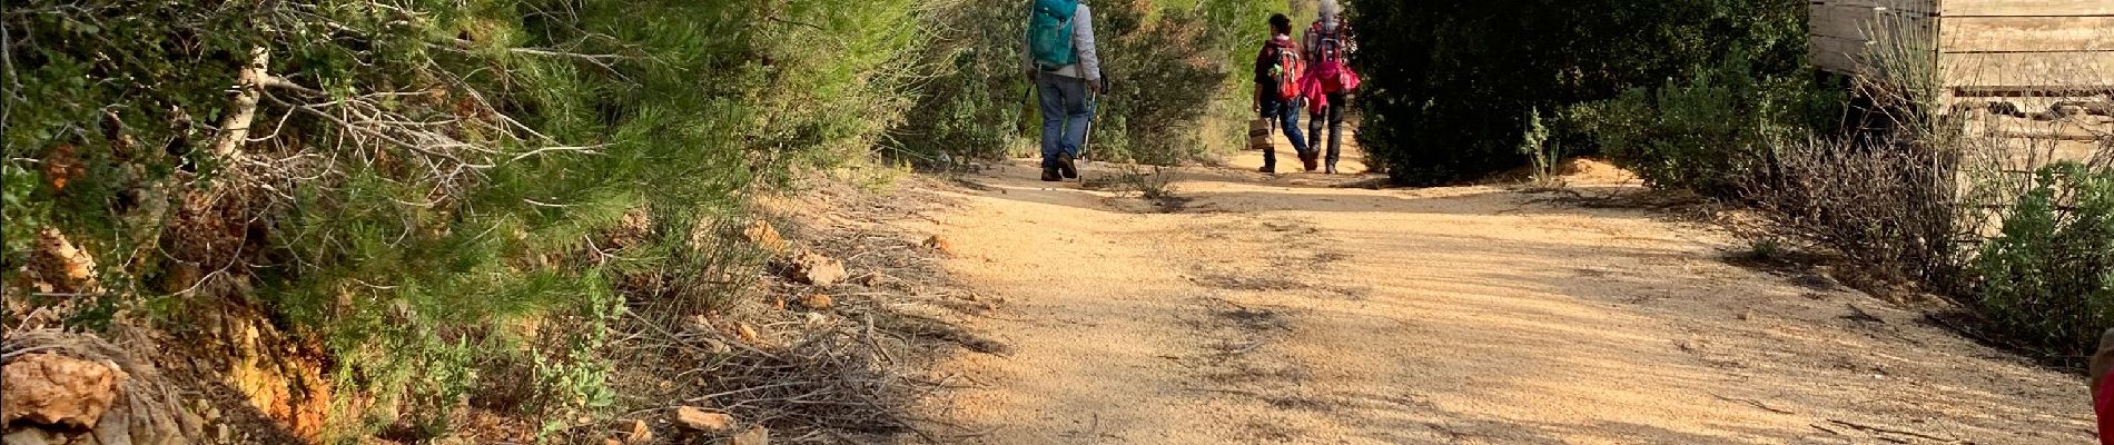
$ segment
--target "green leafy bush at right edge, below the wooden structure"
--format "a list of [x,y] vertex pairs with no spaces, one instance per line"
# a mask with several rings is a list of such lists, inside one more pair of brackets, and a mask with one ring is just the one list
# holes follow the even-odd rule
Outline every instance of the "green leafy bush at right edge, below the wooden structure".
[[2042,169],[1974,272],[1983,314],[2006,335],[2089,354],[2114,327],[2114,169]]

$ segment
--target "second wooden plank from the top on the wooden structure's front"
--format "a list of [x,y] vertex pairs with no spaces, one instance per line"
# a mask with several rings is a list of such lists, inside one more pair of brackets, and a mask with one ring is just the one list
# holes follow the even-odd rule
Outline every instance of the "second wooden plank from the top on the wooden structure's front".
[[1943,21],[1939,49],[1945,53],[2114,51],[2114,15],[1945,17]]

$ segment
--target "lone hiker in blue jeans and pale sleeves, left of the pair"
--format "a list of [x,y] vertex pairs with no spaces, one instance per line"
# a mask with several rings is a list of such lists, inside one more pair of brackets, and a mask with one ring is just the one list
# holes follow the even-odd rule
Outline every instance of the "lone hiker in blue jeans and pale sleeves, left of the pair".
[[[1072,32],[1070,57],[1057,57],[1068,61],[1061,65],[1038,61],[1040,55],[1036,55],[1034,15],[1051,15],[1051,11],[1042,11],[1049,4],[1076,4],[1070,17],[1061,17],[1061,11],[1055,13]],[[1093,118],[1087,95],[1106,93],[1108,84],[1101,78],[1101,55],[1093,42],[1093,8],[1078,2],[1032,2],[1032,8],[1036,11],[1030,17],[1030,51],[1023,53],[1027,55],[1027,78],[1036,84],[1042,108],[1042,181],[1061,181],[1078,177],[1078,152],[1087,141],[1087,120]]]

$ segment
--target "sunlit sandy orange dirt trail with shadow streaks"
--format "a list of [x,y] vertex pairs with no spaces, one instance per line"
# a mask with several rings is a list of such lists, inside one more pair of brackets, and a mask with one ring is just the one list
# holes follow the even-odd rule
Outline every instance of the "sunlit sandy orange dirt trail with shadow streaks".
[[[1351,154],[1355,158],[1355,154]],[[1027,162],[941,217],[1010,344],[964,443],[2087,443],[2082,380],[1651,211],[1175,173],[1177,213]],[[1347,171],[1364,171],[1347,165]],[[1106,175],[1108,171],[1091,171]],[[1575,177],[1605,181],[1607,175]],[[1615,190],[1615,183],[1581,183]]]

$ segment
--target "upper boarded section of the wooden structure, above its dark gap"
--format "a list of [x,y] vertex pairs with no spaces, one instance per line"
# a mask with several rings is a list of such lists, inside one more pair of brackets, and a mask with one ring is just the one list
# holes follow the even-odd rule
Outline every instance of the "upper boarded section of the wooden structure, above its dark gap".
[[1826,72],[1913,57],[1934,61],[1949,97],[2114,91],[2114,0],[1812,0],[1810,11],[1812,59]]

